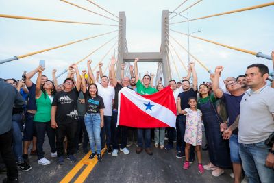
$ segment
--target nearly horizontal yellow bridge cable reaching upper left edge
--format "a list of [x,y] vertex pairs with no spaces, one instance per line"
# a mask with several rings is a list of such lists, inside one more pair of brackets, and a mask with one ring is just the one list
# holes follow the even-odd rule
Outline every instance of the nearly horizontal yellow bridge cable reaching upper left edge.
[[89,24],[89,25],[118,26],[118,25],[110,25],[110,24],[102,24],[102,23],[64,21],[64,20],[56,20],[56,19],[42,19],[42,18],[36,18],[36,17],[16,16],[16,15],[10,15],[10,14],[0,14],[0,17],[7,18],[7,19],[25,19],[25,20],[31,20],[31,21],[50,21],[50,22],[62,22],[62,23]]

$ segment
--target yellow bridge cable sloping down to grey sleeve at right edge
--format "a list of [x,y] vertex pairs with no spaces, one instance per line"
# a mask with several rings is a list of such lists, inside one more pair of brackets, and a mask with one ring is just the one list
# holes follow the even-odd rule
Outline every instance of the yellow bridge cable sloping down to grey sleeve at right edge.
[[[177,31],[174,31],[174,30],[172,30],[172,29],[170,29],[170,30],[173,31],[173,32],[177,32]],[[222,44],[222,43],[220,43],[220,42],[215,42],[215,41],[213,41],[213,40],[207,40],[207,39],[204,39],[204,38],[199,38],[199,37],[197,37],[197,36],[188,35],[188,34],[185,34],[185,33],[182,33],[182,32],[177,32],[177,33],[183,34],[183,35],[185,35],[185,36],[190,36],[190,37],[192,37],[192,38],[197,38],[197,39],[199,39],[199,40],[203,40],[203,41],[206,41],[206,42],[210,42],[210,43],[212,43],[212,44],[219,45],[219,46],[221,46],[221,47],[227,47],[227,48],[229,48],[229,49],[234,49],[234,50],[236,50],[236,51],[241,51],[241,52],[244,52],[244,53],[249,53],[249,54],[251,54],[251,55],[253,55],[253,56],[256,56],[256,57],[262,57],[262,58],[266,58],[266,59],[268,59],[268,60],[272,60],[271,56],[267,56],[267,55],[265,55],[265,54],[262,53],[262,52],[257,52],[257,53],[256,53],[255,51],[249,51],[249,50],[247,50],[247,49],[240,49],[240,48],[237,48],[237,47],[232,47],[232,46],[229,46],[229,45],[224,45],[224,44]]]

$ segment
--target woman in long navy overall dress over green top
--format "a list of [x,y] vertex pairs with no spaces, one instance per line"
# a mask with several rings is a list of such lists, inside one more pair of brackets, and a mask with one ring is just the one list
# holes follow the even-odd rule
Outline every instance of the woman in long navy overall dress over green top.
[[216,97],[209,95],[209,88],[206,84],[199,86],[200,99],[198,108],[203,114],[203,124],[206,130],[208,141],[208,153],[210,163],[204,165],[206,170],[213,170],[212,175],[218,177],[224,173],[224,169],[231,168],[229,156],[229,141],[224,140],[220,131],[221,117],[216,111]]

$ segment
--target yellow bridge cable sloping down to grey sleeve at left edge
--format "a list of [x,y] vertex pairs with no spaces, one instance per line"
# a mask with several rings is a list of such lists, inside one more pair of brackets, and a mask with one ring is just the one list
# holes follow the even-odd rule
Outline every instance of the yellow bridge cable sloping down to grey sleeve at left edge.
[[5,62],[10,62],[10,61],[12,61],[12,60],[19,60],[20,58],[25,58],[25,57],[28,57],[28,56],[33,56],[33,55],[36,55],[36,54],[38,54],[38,53],[42,53],[42,52],[49,51],[49,50],[52,50],[52,49],[58,49],[58,48],[60,48],[60,47],[65,47],[65,46],[67,46],[67,45],[72,45],[72,44],[75,44],[75,43],[77,43],[77,42],[82,42],[82,41],[84,41],[84,40],[89,40],[89,39],[92,39],[92,38],[97,38],[97,37],[99,37],[99,36],[103,36],[103,35],[110,34],[110,33],[113,33],[113,32],[117,32],[117,30],[112,31],[112,32],[107,32],[107,33],[104,33],[104,34],[98,34],[98,35],[96,35],[96,36],[90,36],[90,37],[88,37],[88,38],[84,38],[84,39],[81,39],[81,40],[76,40],[76,41],[73,41],[73,42],[68,42],[68,43],[66,43],[66,44],[64,44],[64,45],[59,45],[59,46],[51,47],[51,48],[48,48],[48,49],[42,49],[42,50],[40,50],[40,51],[34,51],[34,52],[32,52],[32,53],[27,53],[27,54],[21,55],[21,56],[14,56],[14,57],[12,57],[12,58],[8,58],[8,59],[5,59],[5,60],[0,60],[0,64],[3,64],[3,63],[5,63]]

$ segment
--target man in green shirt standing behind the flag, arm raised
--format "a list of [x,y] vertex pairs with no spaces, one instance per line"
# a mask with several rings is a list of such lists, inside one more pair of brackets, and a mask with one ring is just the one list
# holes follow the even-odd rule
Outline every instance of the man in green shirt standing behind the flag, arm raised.
[[[135,58],[134,60],[134,74],[135,74],[136,81],[138,81],[136,83],[137,93],[139,93],[140,95],[151,95],[153,93],[158,92],[158,90],[150,86],[151,77],[149,75],[144,75],[144,77],[142,77],[143,84],[140,82],[140,79],[138,77],[138,66],[137,66],[138,60],[139,60],[138,58]],[[150,128],[138,128],[137,130],[138,147],[136,149],[136,153],[140,154],[140,152],[142,152],[142,136],[144,131],[145,131],[145,151],[147,152],[147,154],[152,155],[153,153],[151,149],[151,129]]]

